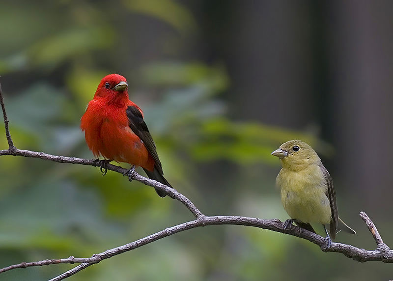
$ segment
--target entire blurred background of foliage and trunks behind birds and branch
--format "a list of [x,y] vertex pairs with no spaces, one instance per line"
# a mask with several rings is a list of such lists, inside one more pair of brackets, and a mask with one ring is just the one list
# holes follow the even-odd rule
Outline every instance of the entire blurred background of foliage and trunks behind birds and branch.
[[[375,249],[363,210],[392,245],[392,11],[391,1],[3,1],[0,74],[13,140],[92,158],[80,118],[101,78],[119,73],[166,178],[204,214],[287,219],[270,153],[300,138],[321,156],[340,217],[358,232],[336,241]],[[181,203],[117,173],[0,157],[0,267],[89,257],[192,219]],[[71,267],[0,279],[46,280]],[[288,235],[208,226],[70,280],[392,278],[390,264],[358,263]]]

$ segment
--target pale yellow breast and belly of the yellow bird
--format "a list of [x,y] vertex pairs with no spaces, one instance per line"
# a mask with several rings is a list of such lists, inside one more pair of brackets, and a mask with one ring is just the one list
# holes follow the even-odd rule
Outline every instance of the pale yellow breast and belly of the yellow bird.
[[276,179],[281,188],[281,202],[292,219],[303,222],[330,223],[332,211],[324,175],[318,165],[301,171],[281,169]]

